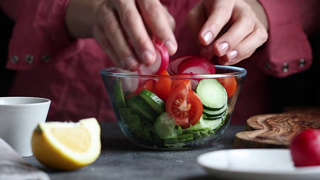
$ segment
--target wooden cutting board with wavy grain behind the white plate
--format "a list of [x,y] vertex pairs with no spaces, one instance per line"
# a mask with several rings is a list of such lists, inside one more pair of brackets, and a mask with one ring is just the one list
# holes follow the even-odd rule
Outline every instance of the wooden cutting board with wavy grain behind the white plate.
[[284,112],[254,115],[245,131],[235,134],[233,148],[288,148],[306,128],[320,128],[320,108],[286,108]]

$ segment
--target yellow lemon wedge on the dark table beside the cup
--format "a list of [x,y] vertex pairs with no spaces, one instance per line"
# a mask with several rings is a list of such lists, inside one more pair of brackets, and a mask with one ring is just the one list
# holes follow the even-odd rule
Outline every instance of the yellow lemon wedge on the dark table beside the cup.
[[100,155],[100,131],[95,118],[78,122],[40,122],[31,138],[33,155],[54,169],[78,169]]

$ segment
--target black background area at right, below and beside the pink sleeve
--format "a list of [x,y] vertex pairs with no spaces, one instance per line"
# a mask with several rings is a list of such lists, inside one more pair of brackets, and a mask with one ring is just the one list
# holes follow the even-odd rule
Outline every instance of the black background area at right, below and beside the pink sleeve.
[[320,106],[320,35],[309,37],[312,46],[312,66],[285,78],[269,77],[272,111],[286,107]]

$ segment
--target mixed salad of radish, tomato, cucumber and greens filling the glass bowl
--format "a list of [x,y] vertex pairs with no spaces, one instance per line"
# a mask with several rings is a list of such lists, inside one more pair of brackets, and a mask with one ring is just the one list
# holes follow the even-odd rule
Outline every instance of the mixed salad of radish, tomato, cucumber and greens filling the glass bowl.
[[[152,79],[119,78],[114,83],[116,110],[129,133],[154,144],[181,148],[214,134],[227,118],[228,97],[236,89],[232,78],[173,79],[163,75],[211,74],[214,64],[196,55],[168,60],[165,47],[154,41],[157,62],[135,72],[161,75]],[[160,62],[158,62],[160,61]]]

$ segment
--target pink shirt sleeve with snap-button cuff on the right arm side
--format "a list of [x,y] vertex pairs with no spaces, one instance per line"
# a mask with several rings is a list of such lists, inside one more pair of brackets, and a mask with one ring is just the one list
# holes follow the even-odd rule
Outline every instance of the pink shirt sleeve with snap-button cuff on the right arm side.
[[254,54],[259,67],[264,73],[277,77],[285,77],[309,68],[312,63],[312,50],[301,25],[297,1],[259,1],[269,21],[268,40]]

